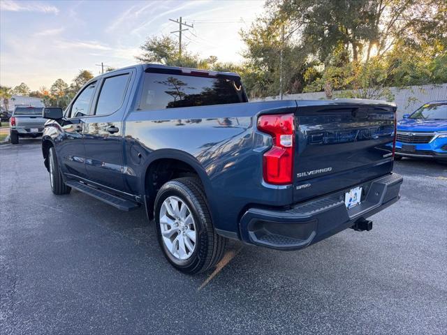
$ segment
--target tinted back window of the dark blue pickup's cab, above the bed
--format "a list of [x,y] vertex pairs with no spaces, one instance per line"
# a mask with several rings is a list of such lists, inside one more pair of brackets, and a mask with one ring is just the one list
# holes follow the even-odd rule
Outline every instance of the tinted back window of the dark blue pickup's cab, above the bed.
[[240,80],[145,73],[140,109],[161,110],[244,102],[247,98]]

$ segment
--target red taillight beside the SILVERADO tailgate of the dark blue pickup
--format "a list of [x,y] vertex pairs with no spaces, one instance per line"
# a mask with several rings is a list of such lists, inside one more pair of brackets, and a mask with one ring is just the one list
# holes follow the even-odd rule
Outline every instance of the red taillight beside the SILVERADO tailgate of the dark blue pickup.
[[263,157],[263,176],[269,184],[292,184],[294,119],[293,114],[261,115],[258,119],[258,129],[273,138],[273,147]]

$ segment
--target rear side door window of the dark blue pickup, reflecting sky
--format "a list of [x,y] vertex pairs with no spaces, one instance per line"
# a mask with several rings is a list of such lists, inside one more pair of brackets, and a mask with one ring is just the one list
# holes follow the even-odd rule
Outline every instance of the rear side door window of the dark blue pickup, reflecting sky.
[[95,114],[108,115],[116,112],[123,104],[128,82],[129,73],[105,78],[99,93]]

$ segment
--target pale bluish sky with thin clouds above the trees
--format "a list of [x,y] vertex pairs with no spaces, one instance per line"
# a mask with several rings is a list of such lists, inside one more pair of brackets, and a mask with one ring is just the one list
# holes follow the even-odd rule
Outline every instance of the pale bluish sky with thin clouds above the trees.
[[[183,45],[200,57],[242,61],[238,31],[248,29],[264,1],[22,1],[0,0],[0,84],[25,82],[31,90],[49,88],[58,78],[68,84],[80,69],[94,75],[104,64],[121,68],[138,63],[148,36],[169,35],[178,24],[193,24]],[[175,36],[174,36],[175,37]]]

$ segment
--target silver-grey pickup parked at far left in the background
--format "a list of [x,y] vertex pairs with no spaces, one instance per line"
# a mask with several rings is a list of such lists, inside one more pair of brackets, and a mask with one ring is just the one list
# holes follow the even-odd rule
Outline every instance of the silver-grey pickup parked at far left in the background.
[[46,119],[42,117],[43,107],[15,107],[9,119],[10,140],[19,143],[19,137],[39,137],[43,133]]

